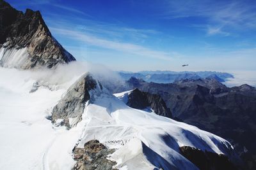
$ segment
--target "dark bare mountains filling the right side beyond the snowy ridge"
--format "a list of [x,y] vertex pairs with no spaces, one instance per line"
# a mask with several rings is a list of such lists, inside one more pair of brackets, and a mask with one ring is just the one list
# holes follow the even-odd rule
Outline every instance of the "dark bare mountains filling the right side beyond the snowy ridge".
[[[133,81],[136,83],[132,84]],[[161,96],[176,120],[227,139],[248,162],[246,169],[256,168],[256,138],[252,138],[256,136],[254,87],[241,85],[228,88],[209,78],[167,84],[141,80],[127,83],[127,87]]]

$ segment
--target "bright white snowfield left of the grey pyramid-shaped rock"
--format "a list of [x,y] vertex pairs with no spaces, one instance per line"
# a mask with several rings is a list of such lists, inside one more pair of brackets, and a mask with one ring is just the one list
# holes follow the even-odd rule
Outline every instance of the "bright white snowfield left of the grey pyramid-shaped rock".
[[[52,81],[50,86],[55,90],[40,87],[29,93],[36,80],[49,77],[39,75],[39,72],[0,67],[0,169],[47,169],[47,150],[54,139],[68,132],[63,127],[53,129],[45,117],[74,80],[57,86]],[[74,140],[70,142],[72,148],[77,138]],[[62,143],[59,148],[62,145],[68,148]],[[70,154],[69,157],[71,163],[63,162],[65,169],[74,164]]]

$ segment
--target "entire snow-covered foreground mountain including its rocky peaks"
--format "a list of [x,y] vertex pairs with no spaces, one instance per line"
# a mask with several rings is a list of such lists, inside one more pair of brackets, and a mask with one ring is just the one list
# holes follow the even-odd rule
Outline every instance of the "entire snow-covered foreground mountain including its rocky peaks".
[[160,116],[161,97],[134,90],[153,111],[131,108],[104,87],[113,72],[66,64],[39,11],[0,0],[0,28],[0,169],[236,169],[228,141]]

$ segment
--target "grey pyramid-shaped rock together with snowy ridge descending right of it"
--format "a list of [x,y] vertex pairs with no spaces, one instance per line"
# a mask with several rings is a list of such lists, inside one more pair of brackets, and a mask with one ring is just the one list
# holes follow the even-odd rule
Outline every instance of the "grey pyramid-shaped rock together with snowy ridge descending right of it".
[[[63,121],[72,127],[70,131],[81,131],[77,139],[78,148],[92,139],[99,139],[108,148],[117,149],[109,158],[117,162],[116,168],[198,169],[180,155],[180,146],[191,146],[237,159],[225,139],[170,118],[130,108],[90,74],[84,74],[67,90],[52,111],[52,121]],[[81,159],[81,153],[83,150],[77,149],[76,157]],[[79,161],[77,167],[83,164]]]

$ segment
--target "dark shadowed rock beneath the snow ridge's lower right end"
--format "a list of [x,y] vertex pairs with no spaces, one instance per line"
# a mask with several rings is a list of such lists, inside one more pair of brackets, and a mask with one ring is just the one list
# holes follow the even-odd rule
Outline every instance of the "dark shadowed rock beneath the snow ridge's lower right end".
[[223,154],[207,152],[189,146],[180,147],[180,153],[200,170],[236,170],[238,169]]

